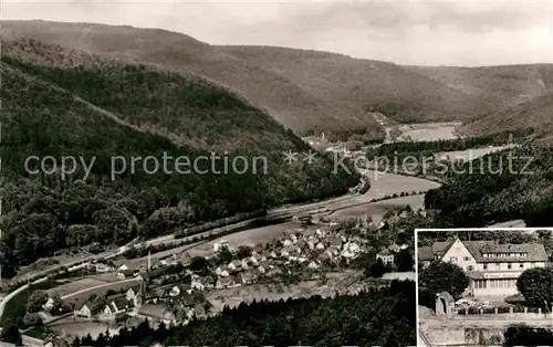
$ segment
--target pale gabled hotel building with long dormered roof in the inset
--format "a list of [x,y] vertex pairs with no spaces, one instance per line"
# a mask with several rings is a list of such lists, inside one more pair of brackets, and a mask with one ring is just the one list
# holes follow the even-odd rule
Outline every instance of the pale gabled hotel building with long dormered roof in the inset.
[[461,241],[456,238],[418,248],[418,261],[459,265],[469,276],[473,296],[509,296],[518,293],[517,280],[528,269],[545,267],[547,254],[541,243],[499,244],[495,241]]

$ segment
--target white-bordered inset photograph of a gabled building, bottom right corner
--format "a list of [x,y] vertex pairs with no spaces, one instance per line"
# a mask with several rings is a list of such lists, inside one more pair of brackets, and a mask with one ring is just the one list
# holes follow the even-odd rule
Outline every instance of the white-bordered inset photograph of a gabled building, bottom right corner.
[[553,346],[553,228],[415,240],[419,346]]

